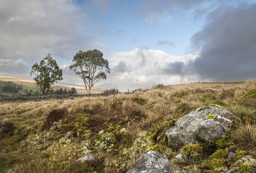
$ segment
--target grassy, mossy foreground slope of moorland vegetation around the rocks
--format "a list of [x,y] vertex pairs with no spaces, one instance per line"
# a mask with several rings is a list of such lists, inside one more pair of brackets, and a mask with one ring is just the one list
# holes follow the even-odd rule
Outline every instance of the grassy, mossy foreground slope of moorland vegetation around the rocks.
[[[176,160],[165,131],[207,104],[223,106],[244,122],[215,143],[186,145]],[[256,81],[196,83],[131,95],[0,104],[0,172],[125,172],[155,150],[190,172],[227,172],[242,156],[256,157]],[[0,127],[1,127],[0,126]],[[235,152],[234,159],[228,153]],[[76,163],[93,154],[97,162]],[[104,159],[109,161],[104,164]],[[195,164],[196,162],[199,162]],[[240,172],[252,172],[243,163]]]

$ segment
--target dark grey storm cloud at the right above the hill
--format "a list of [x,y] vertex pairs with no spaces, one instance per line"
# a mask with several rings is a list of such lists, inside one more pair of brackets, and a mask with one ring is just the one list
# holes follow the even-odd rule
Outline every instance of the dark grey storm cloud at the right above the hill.
[[256,76],[256,4],[221,5],[210,12],[206,25],[191,38],[200,50],[190,64],[201,79],[232,81]]

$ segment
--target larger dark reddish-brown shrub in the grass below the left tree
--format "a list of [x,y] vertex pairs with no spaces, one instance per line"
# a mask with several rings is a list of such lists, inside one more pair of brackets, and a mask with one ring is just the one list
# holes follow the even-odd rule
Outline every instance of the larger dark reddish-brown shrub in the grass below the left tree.
[[53,122],[57,122],[65,117],[67,110],[53,109],[46,117],[41,130],[49,129],[52,127]]

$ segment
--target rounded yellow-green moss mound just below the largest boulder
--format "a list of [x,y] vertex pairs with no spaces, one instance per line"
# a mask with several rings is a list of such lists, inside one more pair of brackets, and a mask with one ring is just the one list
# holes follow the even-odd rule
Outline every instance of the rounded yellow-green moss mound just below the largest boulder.
[[189,159],[193,161],[200,161],[202,160],[204,150],[202,145],[185,145],[182,148],[182,153]]

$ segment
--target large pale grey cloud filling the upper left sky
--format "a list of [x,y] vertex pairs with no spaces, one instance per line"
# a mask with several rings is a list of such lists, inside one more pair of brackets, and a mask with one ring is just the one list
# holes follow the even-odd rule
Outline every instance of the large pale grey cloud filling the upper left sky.
[[[88,16],[72,0],[2,0],[0,57],[11,60],[14,68],[24,63],[31,67],[48,53],[61,64],[72,60],[79,49],[108,49],[81,34],[87,21]],[[2,62],[1,71],[11,74],[13,69],[3,67]]]

